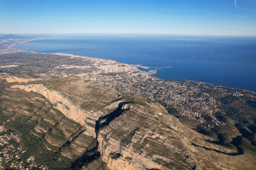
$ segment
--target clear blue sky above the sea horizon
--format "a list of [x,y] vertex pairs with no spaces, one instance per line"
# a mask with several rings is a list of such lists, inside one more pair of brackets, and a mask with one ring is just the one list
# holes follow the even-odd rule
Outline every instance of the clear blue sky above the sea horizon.
[[0,0],[0,33],[256,35],[256,0]]

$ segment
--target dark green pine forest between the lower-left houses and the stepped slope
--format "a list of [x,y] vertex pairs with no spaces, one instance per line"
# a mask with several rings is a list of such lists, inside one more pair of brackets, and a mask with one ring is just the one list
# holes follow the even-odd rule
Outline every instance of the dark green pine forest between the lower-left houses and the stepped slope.
[[[46,164],[49,169],[67,169],[72,165],[72,161],[61,156],[60,149],[52,145],[48,145],[51,150],[45,147],[46,140],[42,134],[36,133],[33,129],[36,121],[29,120],[26,116],[15,116],[16,118],[5,124],[6,128],[13,129],[20,136],[20,145],[26,150],[21,155],[22,161],[26,161],[33,156],[38,165]],[[32,132],[40,136],[33,135]],[[61,161],[59,161],[59,159]]]

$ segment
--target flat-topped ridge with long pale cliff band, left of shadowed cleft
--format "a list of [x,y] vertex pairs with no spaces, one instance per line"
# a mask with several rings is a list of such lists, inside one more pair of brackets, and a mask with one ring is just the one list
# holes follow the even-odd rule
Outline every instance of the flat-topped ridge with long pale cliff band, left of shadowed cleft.
[[[27,92],[33,91],[43,95],[54,105],[54,108],[61,111],[66,117],[85,127],[86,131],[84,133],[86,135],[93,136],[94,138],[96,137],[96,120],[99,116],[103,116],[114,108],[108,104],[109,102],[119,99],[119,94],[116,91],[101,91],[102,89],[86,85],[78,78],[72,78],[72,80],[68,81],[65,79],[54,79],[47,80],[47,82],[37,81],[34,83],[32,82],[35,79],[29,81],[31,79],[21,79],[16,77],[6,78],[6,81],[10,83],[15,82],[15,80],[18,83],[30,82],[31,84],[12,85],[11,88],[19,88]],[[87,91],[87,93],[84,93],[84,91]],[[105,94],[99,96],[101,95],[101,92],[104,92]]]

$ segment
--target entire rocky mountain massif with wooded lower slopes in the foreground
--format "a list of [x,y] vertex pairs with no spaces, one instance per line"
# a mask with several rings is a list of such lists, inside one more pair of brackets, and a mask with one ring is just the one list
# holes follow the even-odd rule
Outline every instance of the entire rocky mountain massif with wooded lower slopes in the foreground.
[[21,159],[33,156],[48,169],[256,167],[256,147],[248,139],[255,134],[247,127],[222,126],[233,136],[221,143],[207,128],[189,128],[158,103],[79,76],[6,74],[0,94],[0,120],[19,135],[26,149]]

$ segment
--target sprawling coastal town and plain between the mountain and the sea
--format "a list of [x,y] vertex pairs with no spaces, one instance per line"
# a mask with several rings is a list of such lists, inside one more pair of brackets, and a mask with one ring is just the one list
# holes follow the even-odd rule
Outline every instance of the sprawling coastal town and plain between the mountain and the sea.
[[[9,45],[8,45],[9,42]],[[213,128],[225,124],[216,118],[216,114],[225,114],[222,101],[214,98],[216,94],[225,97],[237,97],[242,102],[255,101],[256,94],[222,86],[214,86],[194,81],[169,81],[159,79],[138,68],[150,69],[142,65],[128,65],[113,60],[98,59],[72,54],[35,53],[11,49],[13,40],[0,42],[0,72],[33,73],[43,76],[80,76],[92,85],[109,86],[123,94],[139,95],[158,102],[176,116],[183,116],[201,123],[201,126]],[[154,68],[157,69],[157,68]]]

